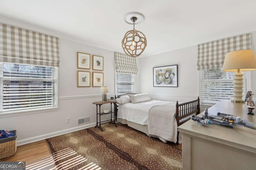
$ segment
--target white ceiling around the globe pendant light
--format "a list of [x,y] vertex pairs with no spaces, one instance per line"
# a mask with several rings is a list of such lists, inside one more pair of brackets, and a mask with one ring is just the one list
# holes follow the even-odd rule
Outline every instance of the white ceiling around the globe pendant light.
[[123,52],[133,29],[124,15],[140,12],[145,19],[135,29],[146,36],[142,56],[149,56],[256,31],[255,7],[256,0],[0,0],[0,15]]

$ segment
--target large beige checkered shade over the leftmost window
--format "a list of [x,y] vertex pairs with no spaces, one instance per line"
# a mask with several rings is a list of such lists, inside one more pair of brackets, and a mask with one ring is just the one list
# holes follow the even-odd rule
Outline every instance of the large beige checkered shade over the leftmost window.
[[0,23],[0,62],[59,66],[59,39]]

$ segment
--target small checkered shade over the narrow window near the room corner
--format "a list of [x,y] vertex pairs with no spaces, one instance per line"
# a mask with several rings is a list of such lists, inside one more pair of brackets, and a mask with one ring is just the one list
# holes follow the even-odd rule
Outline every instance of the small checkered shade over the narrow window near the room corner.
[[130,57],[123,53],[115,52],[116,72],[126,74],[137,74],[138,68],[136,57]]

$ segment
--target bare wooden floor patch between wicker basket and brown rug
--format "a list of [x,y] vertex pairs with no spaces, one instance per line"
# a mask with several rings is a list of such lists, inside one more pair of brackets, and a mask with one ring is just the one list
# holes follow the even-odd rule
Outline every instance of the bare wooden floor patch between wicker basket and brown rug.
[[50,151],[45,140],[18,146],[16,154],[0,161],[26,161],[26,166],[49,156]]

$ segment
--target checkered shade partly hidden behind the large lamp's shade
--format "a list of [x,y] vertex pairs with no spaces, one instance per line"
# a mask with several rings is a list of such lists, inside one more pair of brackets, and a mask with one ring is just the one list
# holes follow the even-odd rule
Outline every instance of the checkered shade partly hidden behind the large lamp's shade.
[[197,69],[206,70],[222,68],[226,53],[250,48],[250,33],[199,44]]

